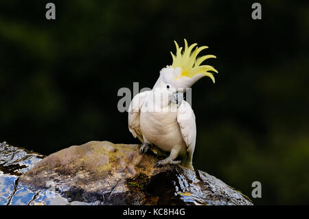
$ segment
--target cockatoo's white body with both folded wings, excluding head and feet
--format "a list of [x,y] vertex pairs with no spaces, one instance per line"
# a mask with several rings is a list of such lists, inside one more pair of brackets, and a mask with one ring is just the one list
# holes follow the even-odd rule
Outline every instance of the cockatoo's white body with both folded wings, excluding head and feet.
[[[128,113],[128,127],[142,143],[155,145],[167,152],[174,152],[172,160],[181,158],[181,165],[193,170],[192,156],[196,139],[194,112],[183,100],[179,108],[170,102],[170,111],[152,112],[148,109],[148,96],[152,91],[139,93],[133,98]],[[172,108],[176,111],[172,111]],[[173,162],[172,162],[173,163]]]

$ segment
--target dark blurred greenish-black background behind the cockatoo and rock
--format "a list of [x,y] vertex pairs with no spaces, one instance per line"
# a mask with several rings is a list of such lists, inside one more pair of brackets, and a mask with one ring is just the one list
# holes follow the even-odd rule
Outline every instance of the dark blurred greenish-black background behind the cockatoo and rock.
[[255,204],[309,204],[308,1],[0,2],[0,141],[50,154],[91,140],[139,143],[117,91],[152,87],[173,41],[218,69],[192,89],[194,167]]

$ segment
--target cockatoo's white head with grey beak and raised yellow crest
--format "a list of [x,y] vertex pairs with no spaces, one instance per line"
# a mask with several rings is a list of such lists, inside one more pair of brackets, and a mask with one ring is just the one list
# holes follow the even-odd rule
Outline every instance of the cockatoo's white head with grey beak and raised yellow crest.
[[176,45],[176,55],[171,52],[173,60],[172,65],[168,65],[161,69],[159,79],[154,89],[161,89],[161,91],[170,93],[172,101],[175,99],[178,103],[178,99],[183,97],[183,92],[192,87],[195,82],[204,76],[208,76],[215,82],[214,76],[209,71],[214,71],[216,73],[218,73],[218,71],[210,65],[201,65],[202,62],[208,58],[216,58],[214,55],[198,57],[198,54],[208,47],[197,47],[196,43],[188,47],[187,41],[185,40],[185,49],[181,52],[183,47],[179,47],[176,41],[174,41],[174,43]]

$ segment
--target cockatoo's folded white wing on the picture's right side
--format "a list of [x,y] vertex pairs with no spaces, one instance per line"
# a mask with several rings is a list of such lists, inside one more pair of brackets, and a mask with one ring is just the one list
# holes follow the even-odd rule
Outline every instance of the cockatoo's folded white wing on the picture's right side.
[[193,152],[196,142],[196,124],[194,112],[187,102],[183,100],[177,109],[177,122],[181,129],[183,140],[187,144],[187,152],[189,153],[188,162],[192,163]]

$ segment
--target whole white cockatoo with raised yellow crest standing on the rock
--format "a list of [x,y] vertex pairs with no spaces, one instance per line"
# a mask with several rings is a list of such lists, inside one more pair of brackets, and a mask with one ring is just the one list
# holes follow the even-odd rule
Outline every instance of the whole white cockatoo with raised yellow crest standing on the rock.
[[[196,43],[185,49],[174,41],[176,56],[172,54],[172,65],[161,69],[160,76],[151,91],[141,92],[133,98],[128,109],[128,128],[134,137],[143,143],[140,152],[146,152],[152,145],[170,152],[170,156],[156,165],[181,163],[194,170],[192,156],[196,143],[195,115],[190,104],[183,100],[186,89],[216,71],[209,65],[201,65],[213,55],[201,56],[198,53],[208,47],[196,47]],[[195,49],[194,49],[195,47]],[[194,49],[194,51],[193,51]],[[181,161],[176,161],[177,157]]]

